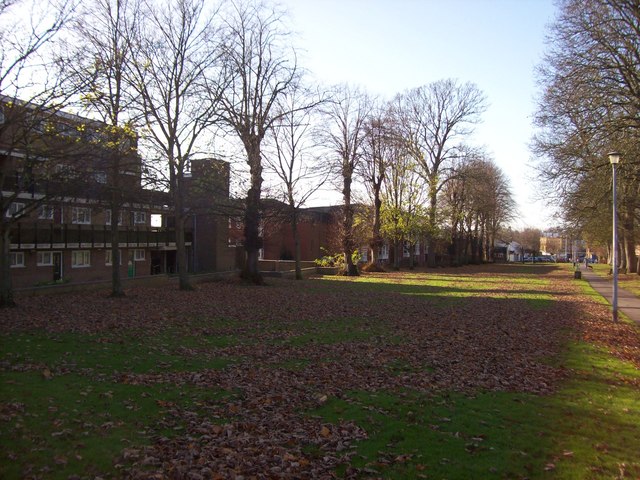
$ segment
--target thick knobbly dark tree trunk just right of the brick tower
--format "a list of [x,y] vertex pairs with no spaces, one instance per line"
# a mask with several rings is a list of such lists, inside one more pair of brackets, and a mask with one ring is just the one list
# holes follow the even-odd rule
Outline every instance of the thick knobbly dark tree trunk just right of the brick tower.
[[247,205],[244,214],[244,249],[247,253],[241,277],[251,283],[261,285],[264,279],[258,266],[259,250],[262,248],[260,238],[260,195],[262,191],[262,159],[260,145],[255,139],[245,140],[251,187],[247,192]]

